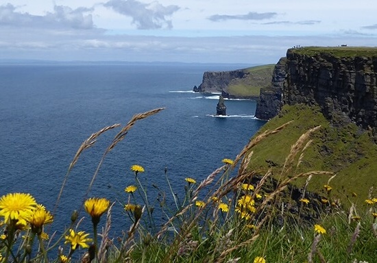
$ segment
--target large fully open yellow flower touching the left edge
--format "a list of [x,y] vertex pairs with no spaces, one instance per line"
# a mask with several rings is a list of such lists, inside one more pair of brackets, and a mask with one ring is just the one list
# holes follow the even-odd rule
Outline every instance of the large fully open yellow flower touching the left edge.
[[0,216],[4,217],[7,224],[14,220],[26,225],[26,219],[35,206],[36,200],[32,195],[23,192],[10,193],[0,198]]

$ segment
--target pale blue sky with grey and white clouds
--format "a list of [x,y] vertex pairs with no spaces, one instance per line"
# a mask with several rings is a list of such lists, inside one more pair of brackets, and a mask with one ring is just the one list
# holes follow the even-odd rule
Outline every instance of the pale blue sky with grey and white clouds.
[[374,0],[0,0],[0,60],[278,62],[377,46]]

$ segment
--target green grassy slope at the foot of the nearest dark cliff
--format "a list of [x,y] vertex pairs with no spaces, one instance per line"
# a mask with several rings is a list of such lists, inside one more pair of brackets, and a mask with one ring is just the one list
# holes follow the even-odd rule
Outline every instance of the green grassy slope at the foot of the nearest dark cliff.
[[[254,148],[250,168],[267,169],[266,160],[278,166],[274,167],[275,176],[284,164],[291,145],[308,129],[321,125],[321,129],[313,134],[313,143],[304,152],[304,160],[298,168],[301,171],[332,171],[337,177],[330,181],[333,197],[339,197],[341,203],[348,206],[348,198],[352,192],[358,195],[359,205],[364,205],[369,188],[377,185],[377,145],[372,143],[368,132],[361,132],[356,125],[335,128],[326,121],[319,108],[306,105],[286,105],[279,116],[266,123],[261,131],[273,129],[292,121],[282,132],[269,136]],[[308,190],[323,192],[323,185],[328,177],[313,177]],[[304,184],[304,181],[297,182]],[[376,197],[374,195],[373,197]]]

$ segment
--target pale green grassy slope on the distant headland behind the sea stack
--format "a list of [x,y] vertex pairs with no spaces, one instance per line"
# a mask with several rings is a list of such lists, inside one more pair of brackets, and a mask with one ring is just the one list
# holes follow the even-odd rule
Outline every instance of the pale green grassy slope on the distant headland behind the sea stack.
[[260,88],[271,84],[273,67],[275,64],[263,66],[253,66],[245,68],[244,71],[250,73],[243,79],[234,79],[228,87],[230,95],[234,96],[259,96]]

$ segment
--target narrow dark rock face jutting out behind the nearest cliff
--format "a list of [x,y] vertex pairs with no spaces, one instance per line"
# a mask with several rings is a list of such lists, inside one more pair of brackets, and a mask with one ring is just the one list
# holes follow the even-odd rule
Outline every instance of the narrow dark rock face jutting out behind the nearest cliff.
[[287,76],[286,62],[287,58],[280,58],[275,68],[273,68],[271,87],[260,89],[255,112],[257,118],[269,120],[278,115],[282,106],[282,90]]

